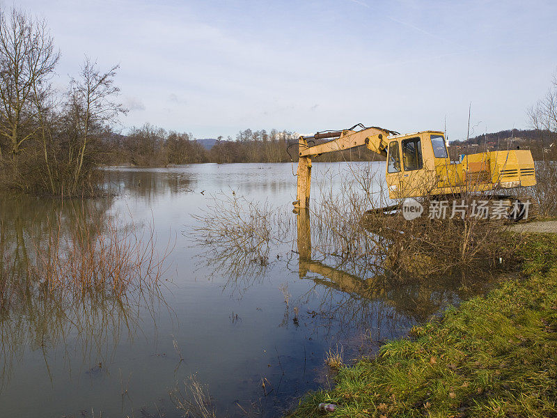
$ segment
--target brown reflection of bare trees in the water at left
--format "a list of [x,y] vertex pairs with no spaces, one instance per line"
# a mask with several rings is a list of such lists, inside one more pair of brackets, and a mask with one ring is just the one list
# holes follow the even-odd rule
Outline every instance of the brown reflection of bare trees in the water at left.
[[[156,261],[155,254],[146,252],[142,259],[152,262],[150,271],[137,264],[140,258],[129,258],[127,261],[136,264],[120,268],[130,269],[139,281],[120,291],[115,286],[95,284],[70,288],[68,280],[58,286],[47,279],[52,265],[57,265],[60,271],[55,272],[65,274],[66,279],[70,268],[74,274],[83,274],[86,266],[76,256],[87,256],[83,261],[91,264],[88,268],[109,274],[106,266],[103,270],[93,263],[102,251],[122,251],[121,244],[134,230],[130,222],[116,223],[109,214],[111,203],[110,197],[61,201],[10,196],[0,201],[0,392],[8,385],[15,362],[24,361],[26,347],[40,350],[49,375],[49,355],[61,348],[70,375],[74,369],[79,373],[92,359],[100,369],[111,361],[123,336],[133,339],[140,331],[139,311],[154,311],[155,305],[164,304],[157,280],[143,279],[159,275],[156,270],[162,264],[157,262],[164,261],[165,255]],[[22,213],[24,210],[28,212]],[[99,242],[113,245],[110,240],[101,240],[109,233],[121,237],[120,246],[100,249]],[[125,260],[115,254],[112,261],[114,268]],[[69,348],[72,353],[68,353]],[[81,353],[77,366],[70,364],[76,351]]]

